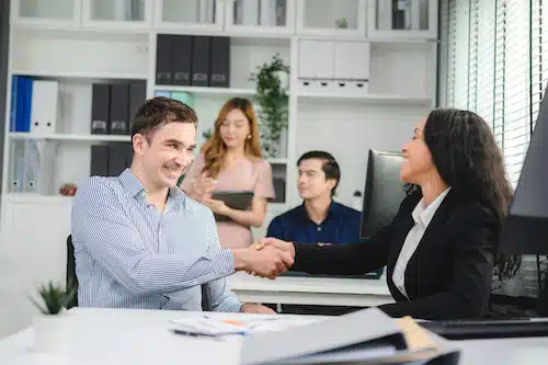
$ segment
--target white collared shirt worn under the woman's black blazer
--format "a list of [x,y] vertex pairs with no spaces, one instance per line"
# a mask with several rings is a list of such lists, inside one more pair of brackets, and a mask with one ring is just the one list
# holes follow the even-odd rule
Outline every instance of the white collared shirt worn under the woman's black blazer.
[[408,299],[409,296],[406,292],[406,269],[408,266],[408,262],[419,247],[422,236],[426,231],[430,221],[434,217],[437,208],[442,204],[449,190],[450,186],[447,187],[447,190],[445,190],[442,194],[439,194],[429,206],[424,205],[423,197],[411,213],[411,216],[414,220],[414,226],[406,237],[406,241],[403,242],[403,247],[401,248],[400,255],[398,256],[398,261],[396,262],[396,266],[393,267],[392,273],[393,284]]

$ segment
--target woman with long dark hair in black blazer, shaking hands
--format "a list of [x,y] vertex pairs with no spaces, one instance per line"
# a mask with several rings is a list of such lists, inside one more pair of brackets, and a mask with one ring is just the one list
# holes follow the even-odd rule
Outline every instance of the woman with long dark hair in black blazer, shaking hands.
[[258,249],[292,251],[292,269],[299,272],[365,274],[386,265],[396,303],[379,308],[392,317],[479,318],[493,272],[511,276],[518,267],[518,260],[496,254],[513,190],[493,135],[472,112],[438,109],[419,123],[402,151],[400,178],[415,189],[368,242],[264,238]]

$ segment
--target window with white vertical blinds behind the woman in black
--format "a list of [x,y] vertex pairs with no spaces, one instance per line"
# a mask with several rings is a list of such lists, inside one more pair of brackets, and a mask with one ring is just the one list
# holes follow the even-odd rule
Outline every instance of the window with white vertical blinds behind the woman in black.
[[442,100],[491,125],[515,187],[548,79],[548,0],[446,0],[442,10]]

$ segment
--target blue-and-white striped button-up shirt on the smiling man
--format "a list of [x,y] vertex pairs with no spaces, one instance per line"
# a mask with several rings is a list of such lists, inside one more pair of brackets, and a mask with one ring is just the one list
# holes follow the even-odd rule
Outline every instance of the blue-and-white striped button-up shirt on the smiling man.
[[75,196],[71,235],[79,306],[202,310],[206,284],[213,310],[241,309],[225,281],[233,255],[220,248],[212,212],[179,187],[161,214],[129,169],[92,176]]

